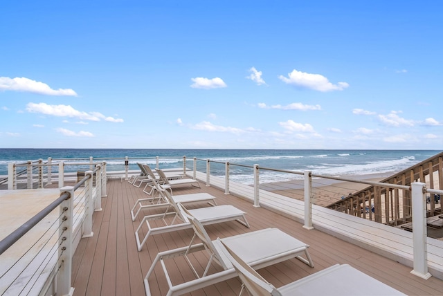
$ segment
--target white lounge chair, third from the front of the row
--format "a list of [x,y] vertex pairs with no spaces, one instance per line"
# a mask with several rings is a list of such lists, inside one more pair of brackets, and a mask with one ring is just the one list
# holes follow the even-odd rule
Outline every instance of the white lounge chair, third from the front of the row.
[[[138,225],[138,228],[135,232],[138,251],[141,251],[143,249],[143,245],[146,243],[147,238],[150,237],[150,235],[192,228],[192,225],[189,222],[188,218],[183,216],[183,213],[180,211],[180,208],[178,207],[177,203],[174,201],[174,198],[170,195],[168,190],[161,189],[156,183],[155,185],[157,186],[157,190],[161,192],[163,197],[168,200],[174,212],[165,212],[164,214],[154,214],[143,217],[140,225]],[[192,214],[192,216],[195,216],[202,225],[210,225],[237,220],[239,223],[242,223],[247,228],[249,228],[249,223],[246,220],[245,216],[246,213],[242,210],[237,209],[237,207],[234,207],[233,205],[215,205],[213,207],[202,207],[195,210],[189,210],[189,212],[190,214]],[[167,216],[172,216],[172,218],[168,220],[170,221],[170,223],[166,221]],[[153,220],[161,220],[163,222],[163,225],[160,227],[153,227],[150,224],[150,221]],[[145,237],[143,238],[143,241],[141,241],[140,232],[141,230],[143,230],[143,225],[147,225],[147,232],[145,234]]]

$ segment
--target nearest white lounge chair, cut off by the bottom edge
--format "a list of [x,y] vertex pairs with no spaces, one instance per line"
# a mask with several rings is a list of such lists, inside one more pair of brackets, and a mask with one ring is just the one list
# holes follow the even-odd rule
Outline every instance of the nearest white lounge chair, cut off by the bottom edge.
[[217,239],[226,258],[233,264],[240,280],[242,290],[248,290],[249,295],[279,296],[279,295],[404,295],[381,281],[353,268],[348,264],[336,264],[312,275],[293,281],[280,288],[275,288],[266,279],[248,265],[242,256],[237,255],[224,239]]

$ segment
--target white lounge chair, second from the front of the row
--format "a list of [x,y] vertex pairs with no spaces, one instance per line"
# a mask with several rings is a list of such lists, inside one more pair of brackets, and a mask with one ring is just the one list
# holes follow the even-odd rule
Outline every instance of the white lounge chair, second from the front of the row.
[[[181,204],[181,211],[186,216],[192,228],[194,228],[195,235],[192,237],[190,245],[188,247],[177,248],[174,250],[167,250],[159,252],[156,255],[152,265],[148,270],[144,283],[146,295],[151,295],[149,277],[154,272],[156,263],[161,263],[163,272],[165,273],[166,280],[168,282],[169,291],[167,295],[181,295],[183,293],[189,293],[199,288],[204,288],[213,284],[217,284],[220,281],[226,281],[227,279],[237,276],[232,263],[221,252],[221,245],[219,241],[211,241],[208,233],[201,223],[192,214],[186,210]],[[201,243],[192,244],[195,237],[201,239]],[[242,257],[254,268],[264,268],[266,266],[273,265],[288,259],[297,258],[307,265],[314,267],[314,263],[309,255],[309,246],[298,239],[291,237],[289,234],[282,232],[276,228],[267,228],[264,230],[257,230],[244,234],[235,235],[233,237],[226,237],[224,243],[230,246],[233,250],[242,254]],[[205,251],[208,252],[209,260],[206,263],[206,268],[201,270],[201,275],[197,272],[196,268],[192,265],[192,262],[188,258],[188,255],[194,252]],[[306,259],[302,257],[305,255]],[[167,270],[166,259],[173,259],[175,257],[182,256],[188,261],[192,272],[195,273],[196,279],[186,281],[182,284],[172,284],[170,273],[172,270]],[[215,262],[221,266],[222,270],[212,274],[208,274],[208,270],[211,264]],[[200,264],[198,265],[200,266]],[[201,264],[204,266],[204,264]],[[200,269],[201,269],[200,266]],[[174,272],[179,272],[174,270]]]

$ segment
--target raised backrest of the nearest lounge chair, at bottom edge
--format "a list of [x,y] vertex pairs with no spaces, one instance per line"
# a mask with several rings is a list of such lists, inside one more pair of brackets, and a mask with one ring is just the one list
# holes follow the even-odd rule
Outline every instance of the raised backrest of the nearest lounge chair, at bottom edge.
[[221,246],[221,252],[224,253],[226,258],[233,264],[235,271],[246,290],[254,296],[281,296],[282,294],[266,279],[258,274],[251,266],[243,261],[240,257],[233,252],[228,246],[224,244],[221,239],[217,238]]

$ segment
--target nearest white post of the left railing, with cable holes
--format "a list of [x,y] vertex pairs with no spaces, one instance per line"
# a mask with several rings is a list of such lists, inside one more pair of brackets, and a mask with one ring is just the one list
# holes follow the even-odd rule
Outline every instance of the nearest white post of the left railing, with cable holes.
[[70,195],[60,204],[60,216],[62,223],[59,230],[59,270],[57,272],[57,295],[73,295],[74,288],[71,286],[72,256],[73,256],[73,205],[74,187],[60,188],[60,196],[64,193]]

